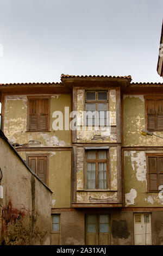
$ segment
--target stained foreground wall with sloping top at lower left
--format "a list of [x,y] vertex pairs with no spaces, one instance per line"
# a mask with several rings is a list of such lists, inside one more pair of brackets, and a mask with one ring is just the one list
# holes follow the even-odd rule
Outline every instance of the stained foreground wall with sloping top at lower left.
[[3,198],[0,199],[0,243],[49,245],[51,192],[0,138]]

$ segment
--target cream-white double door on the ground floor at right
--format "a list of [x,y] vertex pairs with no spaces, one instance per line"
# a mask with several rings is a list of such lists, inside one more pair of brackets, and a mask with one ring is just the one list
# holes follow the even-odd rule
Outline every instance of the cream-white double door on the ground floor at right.
[[134,214],[134,244],[152,245],[151,214]]

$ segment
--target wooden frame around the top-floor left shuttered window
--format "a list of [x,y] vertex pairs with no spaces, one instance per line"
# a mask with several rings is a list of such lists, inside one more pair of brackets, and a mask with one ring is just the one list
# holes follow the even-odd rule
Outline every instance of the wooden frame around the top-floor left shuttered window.
[[[43,100],[48,100],[48,118],[47,118],[47,129],[46,130],[30,130],[30,124],[29,124],[29,120],[30,120],[30,100],[39,100],[39,99],[43,99]],[[27,132],[48,132],[50,131],[50,99],[51,96],[27,96]]]

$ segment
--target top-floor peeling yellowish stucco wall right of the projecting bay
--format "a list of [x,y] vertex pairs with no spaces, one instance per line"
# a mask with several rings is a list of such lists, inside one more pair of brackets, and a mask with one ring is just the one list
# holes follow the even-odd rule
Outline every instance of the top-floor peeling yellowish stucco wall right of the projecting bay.
[[[124,146],[161,146],[162,139],[143,136],[145,129],[145,99],[143,95],[123,95]],[[163,131],[154,132],[163,137]]]

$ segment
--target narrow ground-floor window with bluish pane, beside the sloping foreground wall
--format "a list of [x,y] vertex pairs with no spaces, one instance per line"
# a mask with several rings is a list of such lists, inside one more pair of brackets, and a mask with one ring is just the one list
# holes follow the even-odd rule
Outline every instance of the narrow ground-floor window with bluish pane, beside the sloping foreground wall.
[[60,245],[60,214],[52,215],[51,245]]

